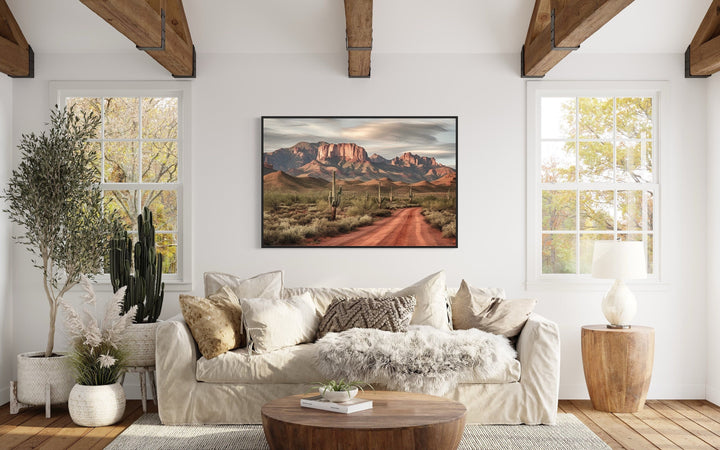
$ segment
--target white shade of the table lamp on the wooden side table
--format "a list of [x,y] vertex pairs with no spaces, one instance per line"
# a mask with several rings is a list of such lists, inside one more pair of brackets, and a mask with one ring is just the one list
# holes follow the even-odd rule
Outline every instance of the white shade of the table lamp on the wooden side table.
[[595,241],[594,278],[633,280],[647,277],[642,241]]

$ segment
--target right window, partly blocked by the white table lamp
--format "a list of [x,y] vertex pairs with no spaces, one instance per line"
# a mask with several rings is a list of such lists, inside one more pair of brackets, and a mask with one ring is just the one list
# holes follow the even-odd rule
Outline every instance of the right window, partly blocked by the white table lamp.
[[642,241],[657,279],[658,90],[533,86],[528,103],[529,280],[588,276],[596,240]]

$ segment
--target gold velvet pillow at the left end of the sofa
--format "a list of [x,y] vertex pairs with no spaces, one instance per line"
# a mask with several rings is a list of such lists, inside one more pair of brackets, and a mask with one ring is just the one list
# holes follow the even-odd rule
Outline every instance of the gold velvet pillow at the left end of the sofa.
[[206,359],[245,346],[242,309],[227,286],[208,298],[180,295],[180,309]]

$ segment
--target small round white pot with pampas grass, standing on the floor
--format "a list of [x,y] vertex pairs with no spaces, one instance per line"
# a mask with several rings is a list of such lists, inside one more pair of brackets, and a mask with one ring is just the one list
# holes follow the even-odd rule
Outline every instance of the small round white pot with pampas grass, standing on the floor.
[[120,383],[101,386],[76,384],[68,399],[70,418],[83,427],[117,423],[125,413],[125,391]]

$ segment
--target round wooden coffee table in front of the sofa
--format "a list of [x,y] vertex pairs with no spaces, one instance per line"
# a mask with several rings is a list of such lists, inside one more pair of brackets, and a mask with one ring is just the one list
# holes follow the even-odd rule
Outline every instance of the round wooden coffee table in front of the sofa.
[[315,394],[262,407],[265,438],[277,449],[456,449],[467,410],[462,403],[410,392],[361,392],[372,409],[340,414],[300,406]]

